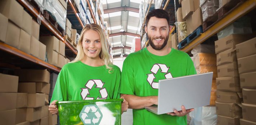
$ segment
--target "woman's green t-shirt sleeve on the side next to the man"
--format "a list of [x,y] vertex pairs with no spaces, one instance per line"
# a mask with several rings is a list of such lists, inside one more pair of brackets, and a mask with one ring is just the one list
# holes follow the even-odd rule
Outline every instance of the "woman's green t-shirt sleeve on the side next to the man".
[[121,71],[119,67],[115,68],[116,70],[116,81],[115,81],[115,87],[113,92],[112,99],[119,99],[120,98],[120,81],[121,81]]

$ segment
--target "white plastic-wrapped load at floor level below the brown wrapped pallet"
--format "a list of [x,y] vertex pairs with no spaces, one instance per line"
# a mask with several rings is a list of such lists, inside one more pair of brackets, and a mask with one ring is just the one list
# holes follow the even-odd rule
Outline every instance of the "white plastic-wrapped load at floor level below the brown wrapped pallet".
[[216,125],[217,115],[215,106],[204,106],[195,108],[189,113],[191,121],[189,125]]

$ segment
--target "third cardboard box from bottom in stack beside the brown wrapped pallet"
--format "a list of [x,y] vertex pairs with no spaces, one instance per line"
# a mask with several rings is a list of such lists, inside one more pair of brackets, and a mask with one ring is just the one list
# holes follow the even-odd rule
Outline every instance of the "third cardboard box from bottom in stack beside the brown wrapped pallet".
[[241,103],[242,92],[216,91],[217,102],[223,103]]

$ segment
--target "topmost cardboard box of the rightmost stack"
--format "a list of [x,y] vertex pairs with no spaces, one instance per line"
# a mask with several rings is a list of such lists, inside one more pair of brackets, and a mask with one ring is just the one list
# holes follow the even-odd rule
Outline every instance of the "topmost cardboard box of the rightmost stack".
[[236,45],[237,59],[256,54],[256,38]]

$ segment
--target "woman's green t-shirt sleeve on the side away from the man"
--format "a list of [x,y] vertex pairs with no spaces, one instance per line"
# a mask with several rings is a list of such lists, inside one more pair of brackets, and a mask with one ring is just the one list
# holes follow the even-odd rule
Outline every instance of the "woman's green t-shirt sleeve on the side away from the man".
[[67,81],[65,79],[65,69],[63,67],[58,75],[58,78],[54,87],[54,91],[52,93],[51,102],[54,100],[67,101],[67,99],[68,99]]

